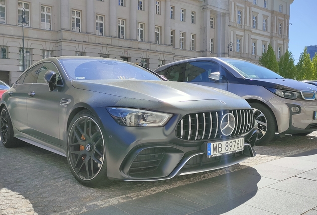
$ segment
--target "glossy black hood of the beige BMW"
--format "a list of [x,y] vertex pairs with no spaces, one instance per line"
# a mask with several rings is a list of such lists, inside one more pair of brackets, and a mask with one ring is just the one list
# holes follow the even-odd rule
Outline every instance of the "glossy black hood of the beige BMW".
[[259,85],[282,90],[301,91],[315,90],[317,87],[308,83],[296,81],[294,79],[246,79],[250,85]]

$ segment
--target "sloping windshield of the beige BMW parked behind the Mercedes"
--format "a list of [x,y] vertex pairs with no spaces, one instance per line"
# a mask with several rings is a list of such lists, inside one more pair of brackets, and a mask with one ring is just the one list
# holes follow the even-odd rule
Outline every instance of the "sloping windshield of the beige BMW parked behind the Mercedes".
[[254,63],[236,60],[230,58],[221,58],[227,64],[232,66],[238,73],[240,73],[245,78],[250,79],[281,79],[283,78],[279,74]]

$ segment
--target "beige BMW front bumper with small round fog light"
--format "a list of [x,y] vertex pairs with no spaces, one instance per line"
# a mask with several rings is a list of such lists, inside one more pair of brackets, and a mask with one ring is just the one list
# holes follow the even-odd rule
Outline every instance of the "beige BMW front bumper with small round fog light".
[[[280,134],[307,133],[317,130],[317,119],[314,119],[314,111],[317,111],[317,100],[289,100],[274,97],[267,102],[272,109]],[[291,108],[300,108],[298,113],[293,113]]]

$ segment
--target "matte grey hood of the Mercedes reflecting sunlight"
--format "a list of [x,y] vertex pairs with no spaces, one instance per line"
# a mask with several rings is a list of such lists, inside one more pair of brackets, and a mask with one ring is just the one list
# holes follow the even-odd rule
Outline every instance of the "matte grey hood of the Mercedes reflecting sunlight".
[[169,81],[141,80],[87,80],[72,81],[75,88],[114,96],[163,102],[180,102],[214,99],[241,99],[227,91]]

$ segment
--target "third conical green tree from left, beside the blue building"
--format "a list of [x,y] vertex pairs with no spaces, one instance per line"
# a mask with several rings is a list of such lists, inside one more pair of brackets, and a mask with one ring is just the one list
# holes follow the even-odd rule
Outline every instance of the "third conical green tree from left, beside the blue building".
[[310,55],[307,53],[307,48],[300,54],[296,64],[296,80],[312,80],[315,78],[314,67]]

